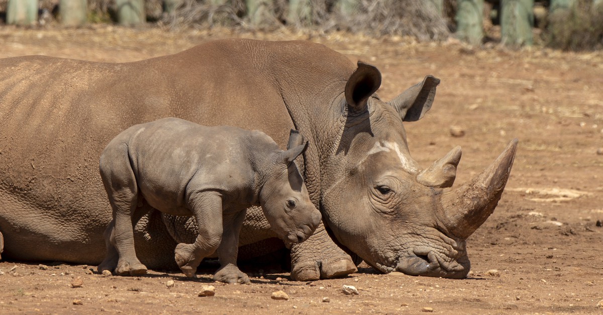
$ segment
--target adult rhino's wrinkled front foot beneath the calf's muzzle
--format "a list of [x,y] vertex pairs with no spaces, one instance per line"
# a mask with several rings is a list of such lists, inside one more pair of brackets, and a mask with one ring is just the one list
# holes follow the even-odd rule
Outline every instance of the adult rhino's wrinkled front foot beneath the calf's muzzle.
[[294,280],[337,278],[357,270],[350,255],[333,242],[322,222],[308,240],[291,247],[291,278]]

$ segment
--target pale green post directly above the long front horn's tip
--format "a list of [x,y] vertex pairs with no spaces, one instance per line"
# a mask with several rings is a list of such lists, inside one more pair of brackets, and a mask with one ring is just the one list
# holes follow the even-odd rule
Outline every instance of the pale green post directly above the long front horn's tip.
[[502,0],[500,3],[501,42],[511,46],[531,46],[534,28],[534,0]]

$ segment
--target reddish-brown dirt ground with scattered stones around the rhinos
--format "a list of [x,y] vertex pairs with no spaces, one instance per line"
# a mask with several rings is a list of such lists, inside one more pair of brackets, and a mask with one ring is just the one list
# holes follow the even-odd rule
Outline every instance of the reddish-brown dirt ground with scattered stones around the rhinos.
[[[197,280],[165,272],[133,278],[90,272],[95,266],[2,261],[0,313],[603,313],[603,152],[597,152],[603,151],[603,52],[287,31],[3,26],[0,57],[134,61],[223,37],[324,43],[379,67],[384,83],[378,93],[386,100],[427,74],[437,76],[432,110],[405,125],[408,142],[423,167],[462,146],[457,182],[481,172],[518,138],[499,206],[467,241],[469,277],[381,275],[361,265],[347,278],[296,282],[266,267],[248,270],[250,285],[227,285],[211,281],[212,269],[200,270]],[[464,136],[451,136],[452,126]],[[199,297],[203,285],[213,285],[215,296]],[[345,295],[343,285],[359,294]],[[271,299],[277,290],[289,299]]]

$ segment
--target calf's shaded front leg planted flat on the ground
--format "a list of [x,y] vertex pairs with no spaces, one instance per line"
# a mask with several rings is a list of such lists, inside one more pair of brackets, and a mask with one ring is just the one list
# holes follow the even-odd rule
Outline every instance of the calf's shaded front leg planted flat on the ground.
[[239,234],[244,219],[245,210],[224,218],[222,242],[218,247],[220,268],[213,275],[215,281],[241,284],[250,282],[249,277],[236,266],[236,258],[239,251]]

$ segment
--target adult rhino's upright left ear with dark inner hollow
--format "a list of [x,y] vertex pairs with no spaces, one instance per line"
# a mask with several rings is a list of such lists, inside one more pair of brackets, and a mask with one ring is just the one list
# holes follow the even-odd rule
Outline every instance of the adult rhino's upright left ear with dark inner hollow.
[[347,104],[355,111],[364,110],[368,98],[381,86],[381,72],[371,64],[358,61],[358,69],[346,84]]

